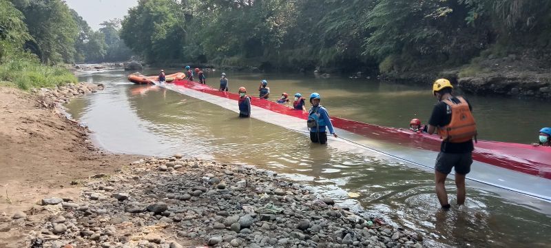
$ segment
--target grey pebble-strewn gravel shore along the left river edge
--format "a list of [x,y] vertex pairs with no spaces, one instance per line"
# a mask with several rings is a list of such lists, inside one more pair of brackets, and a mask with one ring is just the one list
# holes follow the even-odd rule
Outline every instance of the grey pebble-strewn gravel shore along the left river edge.
[[[61,103],[102,89],[87,83],[41,89],[28,101],[56,112],[51,118],[66,118]],[[72,132],[82,129],[78,121],[64,123],[67,136],[90,145],[88,134]],[[180,154],[133,163],[112,156],[109,163],[117,168],[112,174],[90,172],[61,185],[78,189],[75,194],[48,190],[23,211],[1,209],[0,246],[423,247],[419,234],[354,213],[311,193],[309,185],[251,165]]]

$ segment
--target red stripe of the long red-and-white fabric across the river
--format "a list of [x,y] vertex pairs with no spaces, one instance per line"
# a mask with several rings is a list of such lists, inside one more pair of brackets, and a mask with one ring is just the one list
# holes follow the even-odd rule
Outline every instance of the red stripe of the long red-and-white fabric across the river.
[[[238,94],[220,92],[209,85],[202,85],[187,80],[176,80],[174,84],[235,101],[239,99]],[[251,105],[280,114],[302,118],[305,120],[304,125],[306,125],[308,113],[302,112],[302,110],[294,110],[291,107],[254,96],[251,96]],[[371,125],[338,117],[331,117],[331,122],[334,127],[368,138],[390,141],[417,149],[428,149],[435,152],[440,150],[441,140],[436,135],[417,134],[409,130]],[[472,152],[472,158],[482,163],[551,179],[551,147],[534,147],[526,144],[497,141],[478,141],[475,144],[475,151]]]

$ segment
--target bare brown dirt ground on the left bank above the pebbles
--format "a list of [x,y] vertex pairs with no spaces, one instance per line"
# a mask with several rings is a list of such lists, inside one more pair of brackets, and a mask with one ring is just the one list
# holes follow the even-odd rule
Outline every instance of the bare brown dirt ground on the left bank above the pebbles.
[[[98,151],[88,133],[56,110],[37,107],[36,96],[0,87],[0,218],[50,195],[78,196],[79,180],[138,159]],[[10,237],[0,230],[0,247]]]

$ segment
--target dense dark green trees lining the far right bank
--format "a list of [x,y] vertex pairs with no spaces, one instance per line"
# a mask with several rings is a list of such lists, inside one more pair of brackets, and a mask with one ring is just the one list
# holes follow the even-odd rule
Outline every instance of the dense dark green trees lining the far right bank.
[[550,10],[547,0],[141,0],[121,37],[149,62],[402,72],[547,49]]

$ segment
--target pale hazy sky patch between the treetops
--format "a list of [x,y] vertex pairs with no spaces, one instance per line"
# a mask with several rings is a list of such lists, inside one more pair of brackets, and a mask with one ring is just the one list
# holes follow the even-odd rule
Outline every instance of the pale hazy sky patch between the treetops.
[[113,18],[122,18],[138,0],[65,0],[67,6],[76,10],[93,30],[101,28],[99,23]]

